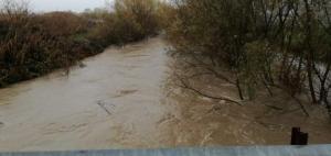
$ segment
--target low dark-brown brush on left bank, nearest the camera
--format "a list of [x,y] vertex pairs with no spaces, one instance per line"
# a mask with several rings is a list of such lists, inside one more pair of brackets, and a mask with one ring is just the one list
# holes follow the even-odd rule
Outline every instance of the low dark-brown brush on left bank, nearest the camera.
[[87,31],[86,21],[78,15],[31,14],[14,1],[6,4],[0,15],[0,87],[68,67],[100,52],[78,38]]

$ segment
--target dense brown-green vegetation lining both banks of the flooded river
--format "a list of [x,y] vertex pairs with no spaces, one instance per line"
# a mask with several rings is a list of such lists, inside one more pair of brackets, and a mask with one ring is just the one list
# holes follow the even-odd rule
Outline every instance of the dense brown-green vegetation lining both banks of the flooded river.
[[309,94],[331,114],[330,0],[115,0],[111,11],[81,14],[2,2],[0,87],[166,30],[178,56],[233,83],[242,100],[277,88],[298,102]]

